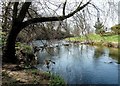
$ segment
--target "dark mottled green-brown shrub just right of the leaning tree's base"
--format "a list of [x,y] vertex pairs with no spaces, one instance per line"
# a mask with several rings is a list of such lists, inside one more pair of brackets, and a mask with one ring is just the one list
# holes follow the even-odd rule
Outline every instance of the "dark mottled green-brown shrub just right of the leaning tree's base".
[[16,57],[18,58],[19,63],[23,63],[22,67],[30,68],[37,64],[37,60],[35,59],[35,55],[30,45],[17,42],[15,46]]

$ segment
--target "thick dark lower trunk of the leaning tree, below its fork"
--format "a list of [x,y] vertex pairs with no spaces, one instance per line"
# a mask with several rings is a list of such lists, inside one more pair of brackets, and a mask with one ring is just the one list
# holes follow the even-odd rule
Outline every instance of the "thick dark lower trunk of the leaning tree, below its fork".
[[16,26],[12,27],[7,38],[5,50],[3,50],[3,62],[17,63],[18,60],[15,56],[15,41],[19,32],[20,31]]

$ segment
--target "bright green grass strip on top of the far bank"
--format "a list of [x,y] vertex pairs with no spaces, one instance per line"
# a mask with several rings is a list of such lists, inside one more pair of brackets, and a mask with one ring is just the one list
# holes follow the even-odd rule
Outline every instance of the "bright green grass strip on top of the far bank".
[[[94,41],[94,42],[118,42],[120,41],[119,35],[111,35],[111,36],[100,36],[98,34],[89,34],[87,35],[88,40]],[[79,36],[79,37],[71,37],[71,38],[66,38],[65,40],[70,40],[70,41],[85,41],[87,39],[85,36]]]

